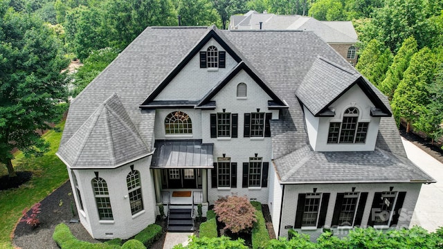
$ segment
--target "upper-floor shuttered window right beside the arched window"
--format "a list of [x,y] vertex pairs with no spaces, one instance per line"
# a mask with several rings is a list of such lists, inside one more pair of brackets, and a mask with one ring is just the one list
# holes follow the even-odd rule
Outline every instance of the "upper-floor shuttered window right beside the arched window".
[[211,113],[210,137],[211,138],[237,138],[237,113]]

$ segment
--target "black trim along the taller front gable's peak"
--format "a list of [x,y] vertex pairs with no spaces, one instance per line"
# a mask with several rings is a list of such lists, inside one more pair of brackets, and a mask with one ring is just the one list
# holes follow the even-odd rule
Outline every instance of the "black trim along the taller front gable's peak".
[[147,106],[150,102],[154,101],[156,96],[158,96],[159,93],[161,93],[161,91],[163,91],[163,89],[168,86],[168,84],[174,79],[174,77],[176,77],[180,73],[180,71],[188,64],[188,62],[190,62],[193,57],[197,56],[201,48],[203,48],[205,44],[210,41],[210,39],[215,39],[215,41],[220,44],[220,46],[224,48],[224,50],[226,50],[226,52],[231,57],[233,57],[236,62],[242,61],[242,58],[240,58],[239,53],[235,50],[235,47],[232,44],[229,44],[228,39],[226,39],[223,34],[219,33],[217,28],[213,26],[208,29],[208,32],[199,40],[197,45],[195,45],[195,47],[190,50],[186,57],[181,59],[181,62],[179,62],[179,64],[168,74],[168,76],[165,77],[165,79],[159,84],[159,86],[157,86],[154,91],[150,93],[150,95],[141,104],[140,107]]

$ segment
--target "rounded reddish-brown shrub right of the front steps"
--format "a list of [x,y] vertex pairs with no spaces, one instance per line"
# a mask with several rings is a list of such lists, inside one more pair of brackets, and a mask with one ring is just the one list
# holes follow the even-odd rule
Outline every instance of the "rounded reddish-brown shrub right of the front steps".
[[226,196],[215,201],[214,212],[225,229],[233,233],[250,232],[257,222],[255,208],[246,197]]

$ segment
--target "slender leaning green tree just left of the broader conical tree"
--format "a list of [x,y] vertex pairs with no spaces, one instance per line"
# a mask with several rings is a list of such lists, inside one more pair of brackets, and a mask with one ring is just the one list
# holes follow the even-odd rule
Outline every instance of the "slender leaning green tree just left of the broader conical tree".
[[379,84],[379,89],[392,100],[395,89],[401,80],[403,73],[409,66],[410,58],[417,53],[417,41],[414,37],[409,37],[403,42],[399,52],[394,57],[394,62],[390,65],[386,78]]

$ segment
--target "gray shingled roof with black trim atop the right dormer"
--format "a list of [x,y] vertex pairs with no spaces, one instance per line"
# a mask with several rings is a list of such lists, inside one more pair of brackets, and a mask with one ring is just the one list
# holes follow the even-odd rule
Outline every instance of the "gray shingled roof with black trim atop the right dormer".
[[392,114],[388,107],[369,84],[357,71],[351,71],[323,57],[318,57],[298,87],[296,96],[314,116],[334,116],[334,112],[328,109],[329,106],[352,86],[358,85],[374,104],[371,116],[390,117]]

